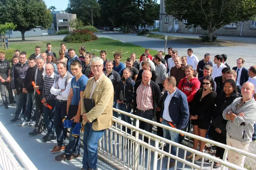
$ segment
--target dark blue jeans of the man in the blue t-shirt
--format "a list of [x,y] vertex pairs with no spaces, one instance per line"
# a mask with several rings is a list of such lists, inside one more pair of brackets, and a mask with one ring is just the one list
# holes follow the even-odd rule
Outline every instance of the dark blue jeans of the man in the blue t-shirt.
[[73,153],[76,155],[80,154],[80,144],[81,144],[80,135],[78,135],[77,137],[72,136],[73,127],[76,124],[77,123],[72,124],[72,127],[69,132],[69,144],[66,145],[66,148],[65,148],[65,154],[67,155],[72,155]]

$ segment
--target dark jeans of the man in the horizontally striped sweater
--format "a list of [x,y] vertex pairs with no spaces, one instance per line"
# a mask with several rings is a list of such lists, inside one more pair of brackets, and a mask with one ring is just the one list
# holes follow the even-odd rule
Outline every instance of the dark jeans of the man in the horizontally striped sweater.
[[55,111],[56,100],[50,100],[50,101],[47,101],[47,103],[52,107],[52,110],[44,106],[44,123],[47,129],[47,134],[49,136],[54,136],[53,121],[54,121],[54,111]]

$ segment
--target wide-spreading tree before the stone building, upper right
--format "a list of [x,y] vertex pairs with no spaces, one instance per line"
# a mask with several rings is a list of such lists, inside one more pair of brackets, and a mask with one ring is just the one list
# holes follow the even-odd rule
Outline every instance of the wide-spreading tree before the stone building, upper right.
[[164,3],[167,14],[180,21],[187,19],[186,28],[200,26],[208,30],[210,42],[216,29],[256,16],[255,0],[164,0]]

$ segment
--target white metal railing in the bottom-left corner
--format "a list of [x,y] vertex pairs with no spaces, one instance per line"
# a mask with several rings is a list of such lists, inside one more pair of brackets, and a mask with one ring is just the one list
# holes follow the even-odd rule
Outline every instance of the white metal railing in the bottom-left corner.
[[[17,142],[13,139],[11,134],[7,131],[7,129],[0,122],[0,134],[4,138],[4,141],[10,146],[12,152],[19,159],[21,164],[24,166],[26,170],[37,170],[32,161],[27,157],[21,147],[17,144]],[[0,147],[0,156],[1,156],[1,167],[2,169],[22,169],[19,163],[17,163],[16,159],[13,155],[8,154],[10,150],[7,148],[6,144],[3,143]],[[2,150],[1,150],[2,149]],[[11,152],[10,152],[11,153]]]

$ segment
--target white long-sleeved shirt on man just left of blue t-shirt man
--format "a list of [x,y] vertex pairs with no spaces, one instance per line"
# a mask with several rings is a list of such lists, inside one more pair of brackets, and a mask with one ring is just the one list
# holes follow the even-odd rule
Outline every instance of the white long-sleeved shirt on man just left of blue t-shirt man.
[[[61,76],[59,77],[59,80],[58,80],[59,89],[56,89],[55,81],[51,87],[51,90],[50,90],[51,94],[56,95],[57,96],[56,99],[58,100],[68,100],[68,96],[71,88],[71,79],[69,79],[68,84],[65,87],[66,76],[67,76],[67,73],[64,75],[63,79]],[[60,93],[62,89],[65,89],[65,90]]]

